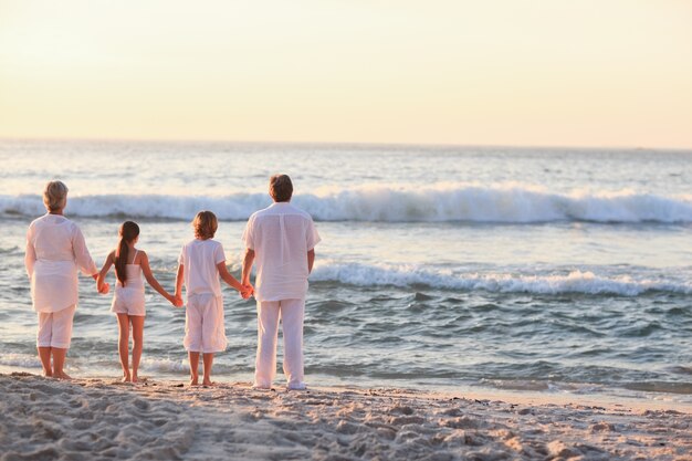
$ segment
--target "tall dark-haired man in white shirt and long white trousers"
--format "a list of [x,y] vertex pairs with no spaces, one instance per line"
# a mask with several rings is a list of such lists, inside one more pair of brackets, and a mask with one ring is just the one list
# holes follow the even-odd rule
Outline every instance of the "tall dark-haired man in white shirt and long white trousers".
[[251,287],[256,261],[258,355],[255,388],[271,388],[276,375],[279,318],[283,324],[284,364],[289,389],[305,389],[303,318],[307,276],[315,261],[319,234],[308,213],[291,205],[293,184],[286,175],[270,178],[270,207],[252,214],[243,233],[245,255],[242,284]]

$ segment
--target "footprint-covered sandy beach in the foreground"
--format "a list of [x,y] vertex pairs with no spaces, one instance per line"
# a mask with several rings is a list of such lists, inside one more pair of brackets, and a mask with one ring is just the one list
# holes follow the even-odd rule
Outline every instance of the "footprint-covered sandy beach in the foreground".
[[0,459],[689,460],[692,415],[397,389],[0,375]]

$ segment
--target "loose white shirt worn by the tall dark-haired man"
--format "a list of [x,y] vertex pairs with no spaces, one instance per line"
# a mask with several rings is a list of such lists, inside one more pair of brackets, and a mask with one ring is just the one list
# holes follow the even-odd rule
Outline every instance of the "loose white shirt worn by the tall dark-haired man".
[[243,232],[254,250],[258,301],[305,298],[307,252],[319,242],[313,219],[289,202],[276,202],[253,213]]

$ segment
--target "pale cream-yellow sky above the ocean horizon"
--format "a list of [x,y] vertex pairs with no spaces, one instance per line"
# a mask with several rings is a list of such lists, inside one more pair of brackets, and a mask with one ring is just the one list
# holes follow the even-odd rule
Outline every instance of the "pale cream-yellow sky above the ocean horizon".
[[0,137],[692,148],[692,1],[0,0]]

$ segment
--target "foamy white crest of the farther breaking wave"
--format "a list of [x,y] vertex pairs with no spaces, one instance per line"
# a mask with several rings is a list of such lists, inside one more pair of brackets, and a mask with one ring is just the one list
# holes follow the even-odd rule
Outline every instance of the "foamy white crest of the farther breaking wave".
[[[245,220],[270,205],[266,193],[223,197],[96,195],[71,197],[77,217],[191,219],[212,210],[227,221]],[[317,221],[380,222],[692,222],[692,196],[662,196],[631,190],[554,192],[535,186],[432,185],[325,189],[296,196],[294,203]],[[39,216],[39,196],[0,196],[0,212]]]

